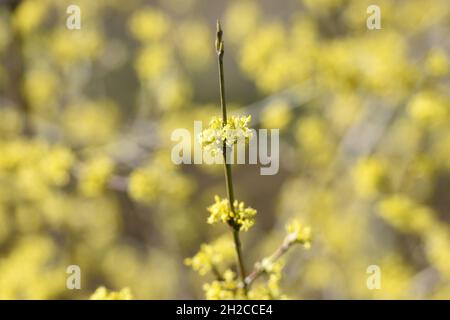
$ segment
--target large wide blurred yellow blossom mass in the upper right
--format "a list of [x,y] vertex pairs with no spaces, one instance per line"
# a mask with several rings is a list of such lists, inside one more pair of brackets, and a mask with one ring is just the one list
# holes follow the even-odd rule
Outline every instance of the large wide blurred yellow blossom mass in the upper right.
[[395,32],[335,39],[321,52],[320,81],[332,90],[363,87],[395,102],[405,97],[417,77],[405,40]]

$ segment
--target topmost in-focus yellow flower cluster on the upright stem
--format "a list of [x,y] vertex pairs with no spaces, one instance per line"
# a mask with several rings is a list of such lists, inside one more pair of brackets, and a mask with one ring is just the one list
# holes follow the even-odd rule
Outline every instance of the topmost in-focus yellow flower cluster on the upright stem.
[[222,152],[224,142],[229,147],[235,143],[248,142],[253,135],[248,128],[250,120],[251,116],[231,116],[223,125],[222,118],[213,117],[209,127],[200,134],[199,142],[213,155]]

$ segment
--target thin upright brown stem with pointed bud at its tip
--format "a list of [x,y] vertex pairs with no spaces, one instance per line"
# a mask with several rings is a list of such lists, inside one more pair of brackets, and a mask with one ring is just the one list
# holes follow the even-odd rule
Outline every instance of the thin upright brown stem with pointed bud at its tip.
[[[220,27],[219,21],[217,21],[217,34],[216,34],[216,53],[218,58],[218,66],[219,66],[219,85],[220,85],[220,105],[222,108],[222,125],[225,126],[227,124],[227,106],[225,101],[225,79],[223,73],[223,40],[222,40],[222,28]],[[228,202],[230,204],[230,210],[232,213],[235,213],[234,210],[234,191],[233,191],[233,177],[231,173],[231,164],[227,161],[227,145],[226,141],[223,143],[223,160],[224,160],[224,169],[225,169],[225,181],[227,187],[227,195]],[[234,246],[236,248],[237,262],[239,266],[240,277],[244,286],[244,293],[247,295],[247,284],[245,282],[246,272],[244,266],[244,260],[242,258],[242,246],[241,240],[239,238],[239,226],[237,226],[234,222],[232,222],[231,227],[233,228],[233,240]]]

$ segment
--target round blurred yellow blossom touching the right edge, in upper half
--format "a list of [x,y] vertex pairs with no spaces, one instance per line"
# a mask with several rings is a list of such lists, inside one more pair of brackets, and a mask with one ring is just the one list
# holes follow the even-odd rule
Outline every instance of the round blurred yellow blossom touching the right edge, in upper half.
[[449,115],[450,103],[441,94],[422,91],[412,97],[408,103],[409,115],[424,125],[443,122]]

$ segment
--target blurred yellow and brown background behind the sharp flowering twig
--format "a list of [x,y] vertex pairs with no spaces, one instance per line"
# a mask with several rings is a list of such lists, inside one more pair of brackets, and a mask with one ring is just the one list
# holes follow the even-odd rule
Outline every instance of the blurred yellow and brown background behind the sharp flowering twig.
[[228,108],[280,129],[278,174],[234,166],[248,268],[298,218],[286,297],[449,299],[447,0],[2,1],[0,298],[204,298],[184,260],[228,232],[206,223],[223,169],[174,165],[170,135],[220,115],[218,18]]

